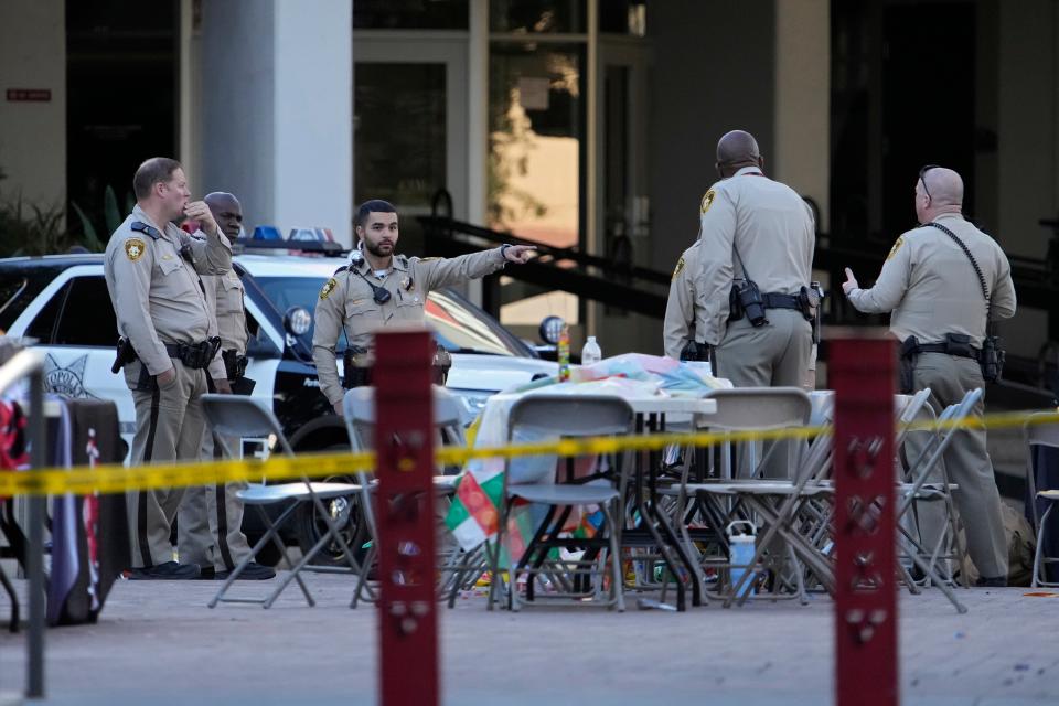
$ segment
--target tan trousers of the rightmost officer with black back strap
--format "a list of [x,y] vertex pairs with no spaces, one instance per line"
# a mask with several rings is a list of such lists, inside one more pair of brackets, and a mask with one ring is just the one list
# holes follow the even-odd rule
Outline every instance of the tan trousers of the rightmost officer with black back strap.
[[[917,391],[930,388],[930,405],[935,414],[960,402],[967,391],[984,387],[976,361],[944,353],[920,354],[912,379]],[[984,409],[985,405],[980,400],[972,415],[981,417]],[[922,435],[909,437],[908,447],[912,456],[909,460],[914,460],[923,442]],[[985,430],[956,431],[942,462],[949,482],[959,485],[953,491],[952,500],[963,521],[971,560],[982,576],[1006,577],[1007,535],[1001,515],[1001,494],[993,475],[993,461],[985,446]],[[930,480],[941,482],[940,473],[932,473]],[[917,514],[922,539],[933,547],[945,530],[944,507],[938,502],[921,502],[917,503]]]

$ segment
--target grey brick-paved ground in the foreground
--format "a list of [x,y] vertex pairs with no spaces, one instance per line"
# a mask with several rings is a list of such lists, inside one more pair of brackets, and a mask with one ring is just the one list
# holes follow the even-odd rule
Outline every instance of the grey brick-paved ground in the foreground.
[[[375,704],[375,610],[347,577],[310,575],[268,611],[205,607],[211,582],[115,586],[99,624],[47,633],[45,704]],[[24,590],[24,586],[20,586]],[[264,585],[243,584],[245,592]],[[901,597],[905,704],[1059,704],[1059,596],[961,590]],[[442,610],[445,703],[709,705],[832,702],[832,608],[757,601],[657,610]],[[7,606],[0,606],[7,616]],[[22,688],[24,637],[0,633],[0,692]],[[416,678],[414,665],[408,677]],[[2,699],[0,699],[2,703]]]

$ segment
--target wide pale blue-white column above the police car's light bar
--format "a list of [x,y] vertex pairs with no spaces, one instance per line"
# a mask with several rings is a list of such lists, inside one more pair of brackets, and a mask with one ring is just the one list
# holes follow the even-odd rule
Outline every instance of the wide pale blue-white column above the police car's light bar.
[[249,225],[329,227],[349,245],[352,4],[229,0],[202,11],[203,190],[235,193]]

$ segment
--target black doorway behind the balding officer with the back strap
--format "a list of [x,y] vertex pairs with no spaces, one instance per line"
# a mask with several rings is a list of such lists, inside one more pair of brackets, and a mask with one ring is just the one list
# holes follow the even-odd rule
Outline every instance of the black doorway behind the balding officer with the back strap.
[[839,240],[877,240],[885,252],[913,226],[923,164],[960,172],[973,216],[976,9],[833,0],[831,222]]

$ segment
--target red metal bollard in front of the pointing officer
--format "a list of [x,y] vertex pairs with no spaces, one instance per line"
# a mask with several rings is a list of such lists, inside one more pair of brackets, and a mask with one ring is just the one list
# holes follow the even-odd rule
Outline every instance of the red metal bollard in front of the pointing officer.
[[425,330],[375,336],[378,664],[379,702],[385,706],[431,706],[440,700],[430,387],[434,352],[434,338]]

